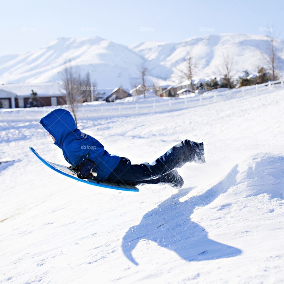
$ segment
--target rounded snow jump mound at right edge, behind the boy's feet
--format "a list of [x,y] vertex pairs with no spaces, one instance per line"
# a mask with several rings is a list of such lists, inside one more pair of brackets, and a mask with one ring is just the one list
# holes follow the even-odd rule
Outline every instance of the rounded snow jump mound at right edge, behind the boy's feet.
[[258,153],[238,165],[236,185],[245,197],[267,194],[283,200],[284,157]]

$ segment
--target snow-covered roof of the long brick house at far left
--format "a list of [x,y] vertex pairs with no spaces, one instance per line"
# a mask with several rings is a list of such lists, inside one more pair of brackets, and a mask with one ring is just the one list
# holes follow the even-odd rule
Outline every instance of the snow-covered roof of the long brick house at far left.
[[17,96],[30,96],[32,90],[35,91],[39,97],[46,96],[64,96],[62,83],[41,83],[41,84],[3,84],[0,89],[16,93]]

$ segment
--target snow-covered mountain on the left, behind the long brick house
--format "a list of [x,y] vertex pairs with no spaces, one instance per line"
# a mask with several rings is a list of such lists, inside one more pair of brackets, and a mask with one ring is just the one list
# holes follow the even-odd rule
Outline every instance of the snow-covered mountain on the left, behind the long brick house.
[[[59,38],[39,50],[13,56],[11,60],[5,59],[6,63],[0,68],[0,82],[42,83],[60,80],[65,62],[71,59],[83,74],[91,70],[101,87],[129,83],[129,78],[133,77],[133,66],[142,62],[142,58],[127,46],[99,37]],[[0,60],[2,62],[2,57]]]

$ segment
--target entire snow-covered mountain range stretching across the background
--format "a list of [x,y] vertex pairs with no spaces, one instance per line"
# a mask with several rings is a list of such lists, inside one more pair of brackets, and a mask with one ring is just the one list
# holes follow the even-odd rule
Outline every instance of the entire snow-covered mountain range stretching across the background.
[[[256,72],[265,62],[269,38],[261,35],[220,34],[186,39],[180,43],[143,42],[132,46],[103,38],[59,38],[49,45],[25,54],[0,57],[1,83],[41,83],[60,80],[64,63],[71,59],[82,73],[89,70],[98,86],[130,87],[131,78],[139,81],[139,67],[144,64],[148,84],[177,84],[183,81],[180,70],[191,54],[196,65],[194,78],[219,77],[223,55],[233,58],[233,75],[243,70]],[[284,42],[275,41],[279,67],[284,67]]]

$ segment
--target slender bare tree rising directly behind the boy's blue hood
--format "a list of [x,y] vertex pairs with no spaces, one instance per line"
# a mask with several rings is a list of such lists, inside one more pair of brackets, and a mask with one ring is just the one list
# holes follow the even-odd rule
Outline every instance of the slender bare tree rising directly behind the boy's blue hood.
[[76,66],[72,66],[71,59],[65,62],[65,68],[62,71],[63,90],[66,93],[67,104],[70,106],[71,112],[75,118],[77,125],[77,103],[80,99],[80,74]]

